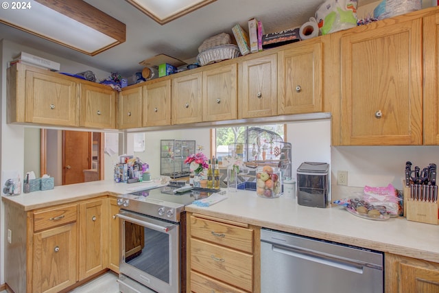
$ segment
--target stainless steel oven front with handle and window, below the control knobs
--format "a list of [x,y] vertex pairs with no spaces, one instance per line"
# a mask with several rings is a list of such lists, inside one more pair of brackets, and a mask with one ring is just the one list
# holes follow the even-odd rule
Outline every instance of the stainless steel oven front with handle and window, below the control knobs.
[[124,235],[119,285],[125,288],[121,291],[180,292],[180,223],[130,211],[121,211],[118,216]]

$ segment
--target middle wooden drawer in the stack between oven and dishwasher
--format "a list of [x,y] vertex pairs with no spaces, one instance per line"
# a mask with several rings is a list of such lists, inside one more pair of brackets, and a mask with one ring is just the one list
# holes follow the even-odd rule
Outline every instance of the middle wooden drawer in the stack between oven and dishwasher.
[[191,239],[191,270],[252,292],[253,256]]

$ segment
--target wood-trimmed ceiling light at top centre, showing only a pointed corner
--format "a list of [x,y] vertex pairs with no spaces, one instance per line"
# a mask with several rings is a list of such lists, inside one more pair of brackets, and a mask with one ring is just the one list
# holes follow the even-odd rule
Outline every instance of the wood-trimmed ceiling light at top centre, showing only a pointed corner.
[[216,0],[126,0],[164,25]]

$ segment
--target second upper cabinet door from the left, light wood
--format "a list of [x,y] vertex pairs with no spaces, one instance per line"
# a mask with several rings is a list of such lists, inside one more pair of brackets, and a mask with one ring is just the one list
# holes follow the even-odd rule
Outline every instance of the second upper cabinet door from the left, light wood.
[[116,128],[116,92],[100,84],[81,84],[80,89],[80,126]]

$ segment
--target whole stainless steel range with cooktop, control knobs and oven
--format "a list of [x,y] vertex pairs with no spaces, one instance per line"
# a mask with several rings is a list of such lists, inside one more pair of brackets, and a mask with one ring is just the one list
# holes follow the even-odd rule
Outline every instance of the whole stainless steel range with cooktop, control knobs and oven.
[[185,205],[211,192],[180,187],[167,185],[117,197],[121,292],[186,292]]

